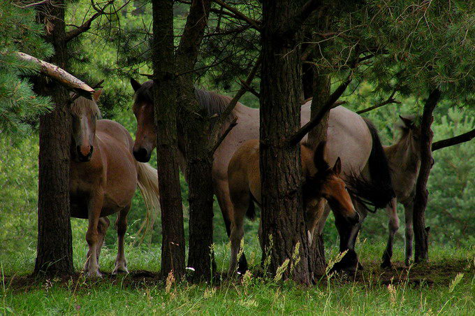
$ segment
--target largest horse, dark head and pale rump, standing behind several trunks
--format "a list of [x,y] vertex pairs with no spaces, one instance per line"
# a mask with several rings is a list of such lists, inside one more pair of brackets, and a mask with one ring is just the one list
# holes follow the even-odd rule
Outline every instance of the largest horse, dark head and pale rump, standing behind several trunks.
[[[138,161],[147,162],[150,159],[152,150],[156,147],[154,106],[152,101],[153,81],[149,80],[140,84],[136,80],[131,79],[131,86],[135,91],[133,113],[137,119],[133,155]],[[200,106],[207,110],[210,117],[219,116],[231,101],[231,98],[228,96],[219,95],[204,89],[195,88],[195,95]],[[311,101],[308,101],[302,106],[302,125],[310,120],[310,105]],[[257,108],[249,108],[238,102],[226,120],[228,124],[231,124],[234,119],[237,119],[238,124],[231,129],[228,136],[224,138],[224,141],[214,152],[212,166],[214,194],[217,196],[228,236],[231,235],[231,218],[233,217],[233,203],[231,202],[228,189],[228,164],[234,152],[242,143],[250,139],[259,138],[259,110]],[[225,126],[221,133],[224,133],[227,127]],[[364,200],[372,201],[379,208],[385,208],[386,204],[393,199],[394,191],[390,186],[389,166],[377,131],[372,129],[360,115],[343,106],[337,106],[330,110],[327,138],[328,155],[326,159],[328,159],[328,163],[331,165],[335,164],[337,157],[341,157],[343,161],[342,178],[345,182],[349,180],[347,175],[359,175],[363,168],[368,173],[375,175],[370,183],[372,189],[360,190],[358,185],[363,184],[363,182],[356,183],[356,185],[353,185],[354,194],[352,195],[362,194]],[[306,138],[303,139],[304,142],[305,140]],[[186,170],[186,151],[184,150],[185,140],[183,134],[178,134],[177,141],[180,155],[179,164],[182,171],[184,171]],[[323,205],[321,207],[323,208]],[[329,210],[325,212],[319,224],[317,224],[319,234],[323,231],[323,224],[328,214]],[[354,230],[353,227],[347,227],[346,222],[338,222],[337,228],[341,231],[340,235],[342,236],[344,231],[348,229]],[[344,250],[349,250],[347,256],[350,254],[351,260],[342,261],[342,267],[354,268],[357,264],[356,252],[354,252],[353,245],[349,243],[348,238],[341,238],[340,240],[340,251]],[[239,265],[240,271],[245,271],[247,263],[244,256],[241,257]]]

